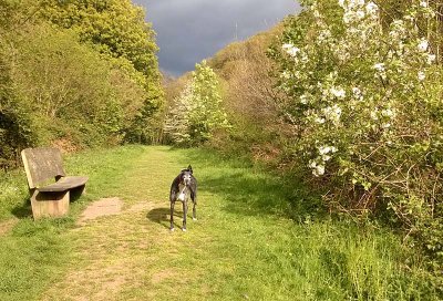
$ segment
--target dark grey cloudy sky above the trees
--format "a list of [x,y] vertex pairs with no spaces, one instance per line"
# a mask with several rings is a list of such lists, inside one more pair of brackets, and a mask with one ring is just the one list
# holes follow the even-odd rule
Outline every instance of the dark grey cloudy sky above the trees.
[[146,11],[159,69],[178,76],[227,44],[267,30],[300,10],[295,0],[133,0]]

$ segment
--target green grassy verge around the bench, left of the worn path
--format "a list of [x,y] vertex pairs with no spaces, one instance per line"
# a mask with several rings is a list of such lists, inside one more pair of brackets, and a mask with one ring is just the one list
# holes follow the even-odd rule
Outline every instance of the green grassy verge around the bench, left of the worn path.
[[[38,300],[60,279],[72,256],[73,243],[66,233],[74,227],[74,217],[92,199],[112,194],[119,175],[144,150],[133,146],[68,157],[66,173],[87,175],[90,183],[87,195],[71,204],[71,215],[61,219],[34,222],[24,172],[1,175],[0,227],[4,229],[0,235],[0,300]],[[8,229],[10,225],[13,229]]]

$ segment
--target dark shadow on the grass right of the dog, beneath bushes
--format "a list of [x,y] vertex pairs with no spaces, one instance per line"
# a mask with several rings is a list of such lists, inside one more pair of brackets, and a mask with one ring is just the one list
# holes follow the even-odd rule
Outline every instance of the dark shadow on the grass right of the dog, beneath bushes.
[[200,198],[205,191],[222,197],[225,201],[223,209],[228,212],[278,215],[299,221],[324,212],[320,196],[307,189],[301,179],[278,177],[270,170],[257,172],[247,163],[227,162],[215,153],[209,156],[199,153],[203,152],[192,150],[187,159],[197,167],[194,174],[198,179]]

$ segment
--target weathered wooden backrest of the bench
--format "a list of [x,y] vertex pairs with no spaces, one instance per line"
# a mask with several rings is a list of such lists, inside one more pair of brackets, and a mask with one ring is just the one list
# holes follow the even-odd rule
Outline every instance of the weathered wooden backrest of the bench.
[[21,152],[29,188],[35,188],[39,184],[54,180],[58,176],[65,176],[62,164],[62,155],[58,148],[37,147]]

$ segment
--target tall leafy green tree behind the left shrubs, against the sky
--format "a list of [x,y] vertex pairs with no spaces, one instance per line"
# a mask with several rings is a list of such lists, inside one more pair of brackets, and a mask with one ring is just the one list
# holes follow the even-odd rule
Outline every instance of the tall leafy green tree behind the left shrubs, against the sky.
[[[91,43],[119,64],[132,66],[127,75],[145,90],[143,105],[127,118],[124,141],[153,143],[158,141],[163,92],[159,85],[155,33],[144,21],[142,8],[130,0],[55,1],[42,0],[43,18],[61,28],[72,29],[84,43]],[[127,63],[126,63],[127,61]],[[142,75],[142,76],[141,76]],[[143,79],[141,81],[141,77]],[[125,91],[125,93],[127,93]]]

